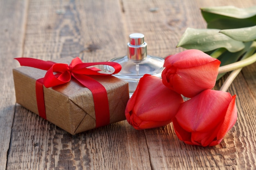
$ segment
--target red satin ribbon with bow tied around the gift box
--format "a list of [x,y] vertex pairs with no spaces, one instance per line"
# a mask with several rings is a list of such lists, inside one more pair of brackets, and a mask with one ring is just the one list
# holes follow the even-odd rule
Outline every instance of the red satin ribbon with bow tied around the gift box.
[[[74,77],[83,86],[87,87],[91,92],[94,100],[94,109],[96,116],[96,127],[105,126],[110,123],[108,95],[105,87],[88,75],[113,75],[121,71],[121,65],[115,62],[93,62],[83,63],[79,57],[72,60],[70,65],[63,63],[55,63],[51,61],[43,61],[34,58],[15,58],[20,62],[21,66],[29,66],[47,70],[45,77],[36,80],[36,100],[38,113],[40,117],[46,119],[45,102],[43,95],[43,85],[46,88],[65,84]],[[113,73],[99,73],[98,68],[91,67],[95,65],[109,65],[115,71]]]

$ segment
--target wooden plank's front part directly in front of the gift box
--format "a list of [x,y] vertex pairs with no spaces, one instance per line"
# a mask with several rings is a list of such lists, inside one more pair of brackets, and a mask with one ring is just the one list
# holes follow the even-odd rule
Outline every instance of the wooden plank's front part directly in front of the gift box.
[[144,132],[126,121],[70,135],[20,105],[16,109],[7,169],[150,169]]

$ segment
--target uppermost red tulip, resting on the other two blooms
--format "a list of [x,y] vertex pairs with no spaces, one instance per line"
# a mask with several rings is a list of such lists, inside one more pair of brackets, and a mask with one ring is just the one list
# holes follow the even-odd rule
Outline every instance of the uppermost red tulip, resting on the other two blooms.
[[163,84],[173,91],[193,97],[216,83],[220,61],[200,50],[186,50],[166,57]]

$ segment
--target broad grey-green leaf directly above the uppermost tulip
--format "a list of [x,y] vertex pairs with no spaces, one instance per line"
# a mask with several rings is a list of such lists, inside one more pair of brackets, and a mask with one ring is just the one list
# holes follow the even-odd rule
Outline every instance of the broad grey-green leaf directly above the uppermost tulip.
[[243,42],[233,40],[227,35],[219,33],[219,31],[219,29],[187,28],[180,42],[178,42],[177,47],[198,49],[204,52],[222,47],[230,52],[237,52],[245,48]]

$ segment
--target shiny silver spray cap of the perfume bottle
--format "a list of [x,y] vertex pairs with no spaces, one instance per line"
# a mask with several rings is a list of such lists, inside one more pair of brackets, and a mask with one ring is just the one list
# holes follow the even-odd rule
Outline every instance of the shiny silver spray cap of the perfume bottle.
[[147,43],[144,42],[144,35],[141,33],[132,33],[129,36],[130,42],[127,44],[128,59],[134,62],[140,62],[147,57]]

